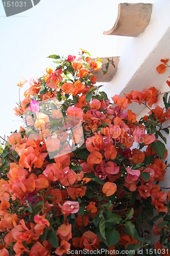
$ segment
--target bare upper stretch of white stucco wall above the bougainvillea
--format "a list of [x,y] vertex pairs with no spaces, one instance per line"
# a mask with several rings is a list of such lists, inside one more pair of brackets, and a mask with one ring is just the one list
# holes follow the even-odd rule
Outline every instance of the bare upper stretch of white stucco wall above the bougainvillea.
[[[157,78],[158,75],[155,68],[159,65],[161,58],[168,57],[168,54],[170,56],[169,9],[169,0],[156,0],[153,4],[151,22],[139,37],[126,37],[125,40],[125,37],[119,36],[117,44],[123,50],[120,54],[117,73],[112,81],[105,84],[105,91],[110,97],[132,89],[141,90],[142,87],[155,84],[155,76]],[[151,75],[152,70],[155,72]],[[162,78],[159,77],[159,79]],[[157,82],[155,86],[158,86]]]

